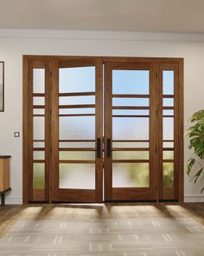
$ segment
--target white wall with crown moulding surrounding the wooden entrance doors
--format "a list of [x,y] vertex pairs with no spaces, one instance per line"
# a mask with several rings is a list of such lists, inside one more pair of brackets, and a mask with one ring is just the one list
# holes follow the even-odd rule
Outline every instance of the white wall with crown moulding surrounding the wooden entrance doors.
[[[12,155],[12,192],[7,196],[7,203],[22,203],[22,55],[183,57],[185,123],[194,111],[204,108],[203,35],[0,30],[0,61],[5,62],[0,154]],[[15,131],[21,132],[20,138],[14,138]],[[185,141],[185,164],[187,157]],[[189,183],[188,177],[185,177],[185,200],[204,201],[201,186]]]

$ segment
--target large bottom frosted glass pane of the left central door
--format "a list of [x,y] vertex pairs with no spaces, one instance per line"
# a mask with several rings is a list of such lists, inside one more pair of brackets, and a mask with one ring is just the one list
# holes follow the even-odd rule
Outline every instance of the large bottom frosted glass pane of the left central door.
[[95,189],[95,165],[60,164],[60,188]]

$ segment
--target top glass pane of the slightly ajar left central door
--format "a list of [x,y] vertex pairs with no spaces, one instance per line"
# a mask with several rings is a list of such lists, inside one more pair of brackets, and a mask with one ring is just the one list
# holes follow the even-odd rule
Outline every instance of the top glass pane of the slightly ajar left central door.
[[60,69],[60,93],[95,91],[95,67]]

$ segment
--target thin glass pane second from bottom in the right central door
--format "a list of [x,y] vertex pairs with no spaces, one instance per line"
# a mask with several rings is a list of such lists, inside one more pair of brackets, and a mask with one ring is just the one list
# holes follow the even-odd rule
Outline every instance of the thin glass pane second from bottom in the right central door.
[[149,151],[113,151],[113,160],[149,160]]

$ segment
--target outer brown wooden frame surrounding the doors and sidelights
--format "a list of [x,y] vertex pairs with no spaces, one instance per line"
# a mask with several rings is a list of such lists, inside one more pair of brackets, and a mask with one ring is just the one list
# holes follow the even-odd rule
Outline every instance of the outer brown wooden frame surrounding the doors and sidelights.
[[[26,55],[22,56],[22,82],[23,82],[23,119],[22,119],[22,127],[23,127],[23,148],[22,148],[22,201],[23,204],[27,204],[29,202],[29,101],[28,101],[28,94],[29,94],[29,62],[30,61],[42,61],[42,62],[49,62],[49,67],[51,68],[54,65],[54,61],[64,60],[64,61],[71,61],[71,60],[80,60],[83,59],[90,59],[90,58],[97,58],[98,64],[102,65],[108,62],[150,62],[150,63],[157,63],[157,68],[159,63],[177,63],[178,65],[178,83],[179,83],[179,99],[178,99],[178,169],[179,169],[179,181],[177,184],[178,187],[178,200],[180,202],[183,201],[183,58],[169,58],[169,57],[111,57],[111,56],[32,56]],[[100,70],[102,73],[102,70]],[[102,78],[101,78],[102,79]],[[157,80],[158,83],[158,80]],[[50,146],[51,147],[51,146]],[[51,178],[49,179],[51,181]],[[50,187],[51,189],[51,187]],[[50,190],[49,190],[50,191]],[[102,193],[102,192],[100,192]],[[50,194],[50,193],[49,193]],[[51,202],[51,198],[49,195],[49,201]]]

